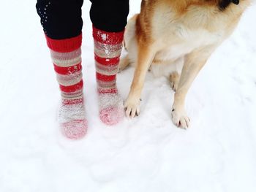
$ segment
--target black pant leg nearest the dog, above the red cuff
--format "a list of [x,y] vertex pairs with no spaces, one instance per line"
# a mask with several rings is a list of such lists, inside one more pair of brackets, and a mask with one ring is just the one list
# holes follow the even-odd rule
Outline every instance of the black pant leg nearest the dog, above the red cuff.
[[123,31],[127,25],[129,0],[90,0],[91,23],[108,32]]

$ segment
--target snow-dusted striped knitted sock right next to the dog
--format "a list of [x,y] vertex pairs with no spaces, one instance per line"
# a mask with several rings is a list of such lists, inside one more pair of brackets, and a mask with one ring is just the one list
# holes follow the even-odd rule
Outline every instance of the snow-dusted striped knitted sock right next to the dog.
[[124,117],[123,100],[116,88],[124,31],[106,32],[93,27],[99,118],[114,125]]

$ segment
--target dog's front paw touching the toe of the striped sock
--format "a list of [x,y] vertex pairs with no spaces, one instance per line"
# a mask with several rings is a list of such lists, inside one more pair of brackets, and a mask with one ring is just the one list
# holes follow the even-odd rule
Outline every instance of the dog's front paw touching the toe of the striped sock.
[[134,118],[140,114],[140,99],[127,99],[124,102],[124,110],[127,118]]

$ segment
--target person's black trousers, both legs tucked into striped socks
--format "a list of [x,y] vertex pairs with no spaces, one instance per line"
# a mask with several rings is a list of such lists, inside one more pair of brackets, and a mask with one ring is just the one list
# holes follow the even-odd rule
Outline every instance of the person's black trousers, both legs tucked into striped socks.
[[[90,0],[91,22],[108,32],[123,31],[127,24],[129,0]],[[51,39],[78,36],[83,27],[83,0],[37,0],[37,13],[45,34]]]

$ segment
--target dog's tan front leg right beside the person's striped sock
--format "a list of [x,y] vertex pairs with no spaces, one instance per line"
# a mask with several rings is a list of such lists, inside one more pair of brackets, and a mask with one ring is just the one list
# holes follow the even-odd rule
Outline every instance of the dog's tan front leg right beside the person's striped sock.
[[127,117],[134,118],[140,113],[140,95],[148,68],[154,58],[152,46],[140,45],[138,47],[138,61],[135,66],[135,74],[129,91],[127,100],[124,102],[125,114]]

